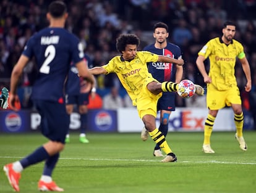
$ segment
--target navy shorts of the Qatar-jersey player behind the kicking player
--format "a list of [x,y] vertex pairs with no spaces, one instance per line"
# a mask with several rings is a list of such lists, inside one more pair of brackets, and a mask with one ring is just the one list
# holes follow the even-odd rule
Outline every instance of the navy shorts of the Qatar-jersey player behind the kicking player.
[[158,99],[157,110],[175,110],[175,92],[163,92],[163,95]]

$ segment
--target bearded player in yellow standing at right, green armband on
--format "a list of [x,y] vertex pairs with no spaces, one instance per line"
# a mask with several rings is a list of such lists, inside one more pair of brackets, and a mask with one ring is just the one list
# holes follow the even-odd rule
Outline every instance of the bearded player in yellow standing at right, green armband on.
[[[247,145],[242,136],[244,125],[244,114],[242,112],[242,102],[237,87],[235,76],[236,57],[242,64],[247,83],[245,91],[249,92],[252,88],[249,62],[245,57],[244,47],[236,41],[236,25],[233,22],[225,22],[223,25],[223,36],[213,38],[198,52],[197,67],[202,73],[203,80],[207,83],[207,107],[208,116],[205,120],[203,152],[213,154],[211,149],[210,137],[218,114],[218,110],[223,107],[231,106],[234,112],[234,123],[236,125],[236,139],[242,150],[247,150]],[[206,72],[203,61],[210,59],[210,71]]]

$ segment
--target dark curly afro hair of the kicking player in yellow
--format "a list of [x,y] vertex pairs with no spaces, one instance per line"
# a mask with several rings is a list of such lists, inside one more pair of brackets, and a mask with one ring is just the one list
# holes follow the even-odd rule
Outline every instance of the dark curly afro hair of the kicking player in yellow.
[[121,52],[126,50],[126,46],[140,44],[140,39],[134,34],[122,34],[116,39],[116,49]]

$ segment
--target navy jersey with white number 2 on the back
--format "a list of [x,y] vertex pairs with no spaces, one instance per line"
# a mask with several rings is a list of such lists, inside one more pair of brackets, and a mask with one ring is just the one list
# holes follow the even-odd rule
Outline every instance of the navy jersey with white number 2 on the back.
[[32,99],[59,102],[64,99],[71,61],[76,64],[84,56],[79,39],[64,28],[40,30],[28,40],[22,54],[30,59],[34,56],[38,69]]

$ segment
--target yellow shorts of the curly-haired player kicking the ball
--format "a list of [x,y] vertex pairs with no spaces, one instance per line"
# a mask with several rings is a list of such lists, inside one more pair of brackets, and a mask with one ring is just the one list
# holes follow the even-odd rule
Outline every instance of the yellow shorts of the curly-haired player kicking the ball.
[[153,115],[156,117],[156,105],[158,99],[160,99],[162,96],[162,92],[160,92],[160,94],[153,94],[148,91],[147,84],[151,83],[152,81],[158,82],[154,78],[148,78],[143,84],[142,91],[137,97],[137,110],[140,118],[144,117],[144,115]]

